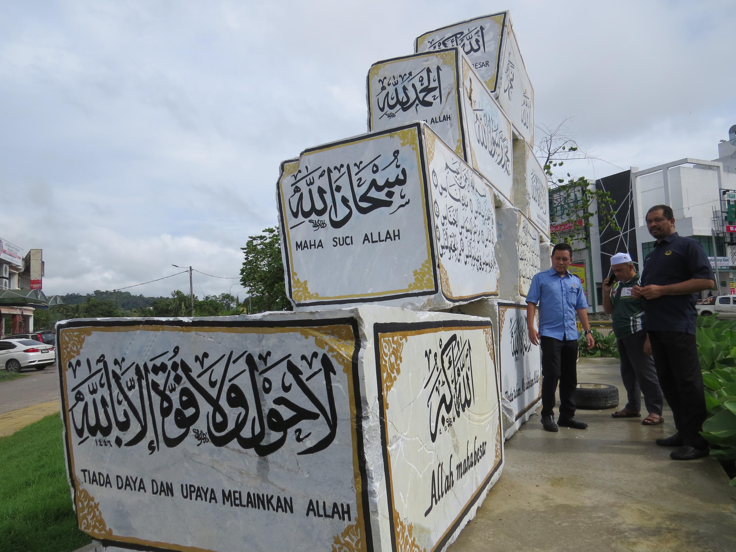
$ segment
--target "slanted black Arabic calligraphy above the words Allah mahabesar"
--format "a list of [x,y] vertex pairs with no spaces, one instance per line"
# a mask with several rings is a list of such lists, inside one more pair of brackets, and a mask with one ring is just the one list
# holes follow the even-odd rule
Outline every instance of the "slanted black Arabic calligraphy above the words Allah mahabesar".
[[453,333],[444,345],[439,340],[439,352],[427,349],[424,356],[428,372],[424,390],[428,392],[429,434],[435,442],[437,434],[449,430],[475,402],[470,339],[463,340]]

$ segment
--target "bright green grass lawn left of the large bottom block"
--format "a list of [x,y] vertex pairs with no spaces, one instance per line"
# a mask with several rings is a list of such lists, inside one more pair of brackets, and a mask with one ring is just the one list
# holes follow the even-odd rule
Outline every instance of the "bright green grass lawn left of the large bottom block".
[[52,415],[0,438],[2,552],[71,552],[91,542],[71,508],[61,431]]

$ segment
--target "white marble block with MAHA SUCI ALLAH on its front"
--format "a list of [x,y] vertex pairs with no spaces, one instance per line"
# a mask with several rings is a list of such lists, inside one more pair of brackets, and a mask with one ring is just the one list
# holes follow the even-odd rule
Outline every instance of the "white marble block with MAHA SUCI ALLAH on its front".
[[498,296],[494,193],[422,123],[305,150],[277,185],[291,302],[439,310]]

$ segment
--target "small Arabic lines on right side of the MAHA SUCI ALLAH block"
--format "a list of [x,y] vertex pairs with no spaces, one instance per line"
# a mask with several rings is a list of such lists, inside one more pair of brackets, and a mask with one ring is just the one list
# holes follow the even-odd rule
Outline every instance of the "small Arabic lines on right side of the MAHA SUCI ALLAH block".
[[439,257],[471,266],[478,272],[496,272],[495,210],[485,185],[476,185],[473,172],[453,159],[438,175],[432,169],[434,230]]

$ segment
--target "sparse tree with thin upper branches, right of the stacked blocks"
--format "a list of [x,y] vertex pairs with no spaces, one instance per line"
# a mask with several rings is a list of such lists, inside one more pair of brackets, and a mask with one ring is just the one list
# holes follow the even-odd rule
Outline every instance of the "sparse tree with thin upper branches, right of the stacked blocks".
[[[616,211],[612,209],[615,200],[607,191],[598,190],[594,183],[586,177],[575,177],[567,169],[562,169],[565,163],[580,160],[601,160],[588,149],[578,146],[577,141],[570,135],[567,121],[562,121],[557,127],[538,127],[542,130],[542,137],[538,139],[536,155],[547,174],[550,197],[550,224],[567,224],[571,226],[561,232],[552,232],[552,242],[562,241],[572,244],[574,241],[583,241],[590,247],[591,219],[598,215],[598,224],[601,227],[610,225],[612,230],[620,231],[616,224]],[[578,225],[578,221],[582,221]]]

